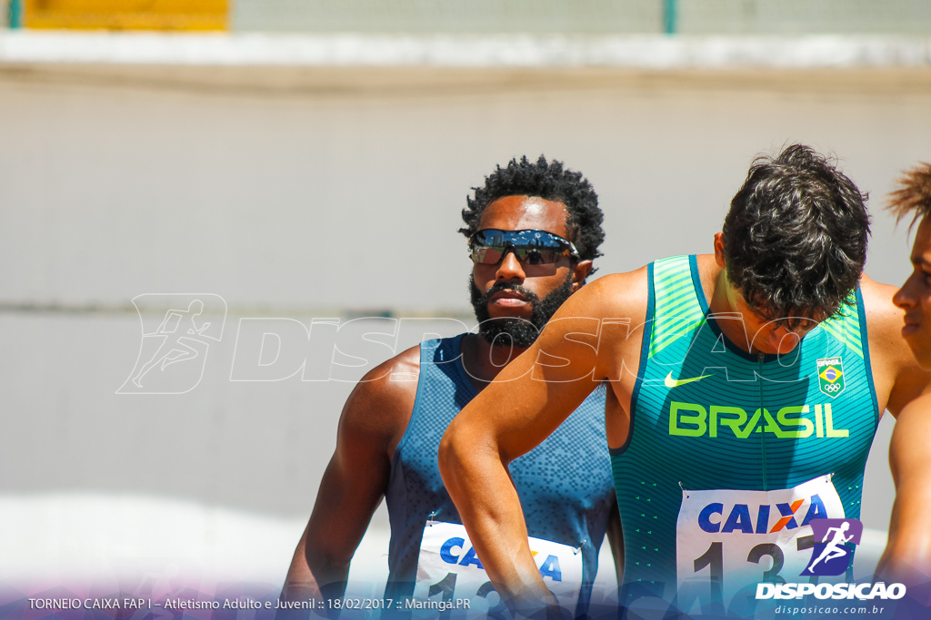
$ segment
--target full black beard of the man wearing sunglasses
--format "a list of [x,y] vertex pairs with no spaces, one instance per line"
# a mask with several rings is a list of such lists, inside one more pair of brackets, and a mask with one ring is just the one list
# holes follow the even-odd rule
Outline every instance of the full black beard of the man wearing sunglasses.
[[[562,303],[573,294],[573,273],[569,272],[566,281],[552,293],[541,299],[519,284],[495,283],[484,295],[475,285],[475,278],[469,276],[469,291],[472,298],[472,309],[475,318],[479,320],[479,336],[489,343],[499,347],[530,347],[540,336],[546,323],[552,318]],[[518,317],[501,317],[492,319],[488,311],[488,303],[492,295],[500,291],[515,291],[527,298],[531,305],[530,319]]]

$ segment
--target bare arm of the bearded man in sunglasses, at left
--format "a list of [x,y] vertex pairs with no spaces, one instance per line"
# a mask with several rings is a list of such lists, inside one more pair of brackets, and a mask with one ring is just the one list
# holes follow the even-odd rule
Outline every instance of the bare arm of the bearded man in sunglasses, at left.
[[406,350],[363,377],[340,416],[336,450],[317,502],[294,551],[281,593],[285,600],[343,596],[349,561],[387,488],[391,456],[407,427],[417,382],[419,348]]

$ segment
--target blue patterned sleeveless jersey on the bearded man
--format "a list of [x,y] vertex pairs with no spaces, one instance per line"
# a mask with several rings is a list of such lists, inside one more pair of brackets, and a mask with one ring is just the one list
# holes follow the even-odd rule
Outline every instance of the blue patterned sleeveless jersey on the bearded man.
[[[395,450],[385,493],[391,523],[385,598],[412,595],[427,521],[462,523],[440,479],[437,453],[452,418],[478,394],[460,360],[463,336],[421,344],[416,401]],[[552,435],[509,467],[528,534],[581,547],[579,613],[587,610],[614,504],[604,402],[605,389],[599,386]]]

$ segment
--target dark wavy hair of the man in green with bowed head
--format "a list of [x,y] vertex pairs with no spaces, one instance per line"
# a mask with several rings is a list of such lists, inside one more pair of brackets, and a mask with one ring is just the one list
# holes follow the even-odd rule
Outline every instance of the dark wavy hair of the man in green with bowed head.
[[807,146],[758,156],[723,228],[727,278],[749,309],[789,328],[843,311],[866,263],[866,200]]

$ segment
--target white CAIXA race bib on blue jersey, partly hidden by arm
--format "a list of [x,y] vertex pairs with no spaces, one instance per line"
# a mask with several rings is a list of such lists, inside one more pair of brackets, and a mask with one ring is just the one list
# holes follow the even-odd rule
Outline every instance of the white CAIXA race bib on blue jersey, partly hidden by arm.
[[[541,538],[528,538],[533,559],[560,607],[575,613],[582,587],[582,551]],[[409,603],[413,617],[509,618],[485,573],[466,528],[428,521],[417,561],[417,584]],[[450,612],[450,613],[444,613]]]

